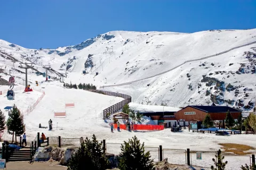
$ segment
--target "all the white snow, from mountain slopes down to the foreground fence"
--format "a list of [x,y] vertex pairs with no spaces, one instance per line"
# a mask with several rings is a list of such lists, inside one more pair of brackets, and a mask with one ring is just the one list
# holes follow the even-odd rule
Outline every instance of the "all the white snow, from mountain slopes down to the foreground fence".
[[[67,78],[64,78],[65,83],[92,83],[100,89],[100,86],[135,81],[126,86],[108,87],[103,90],[132,96],[133,105],[137,105],[138,108],[139,104],[163,103],[169,106],[166,109],[172,110],[187,105],[215,103],[251,112],[255,106],[256,91],[255,44],[236,48],[205,60],[180,64],[255,41],[256,29],[211,30],[195,33],[111,31],[75,46],[39,50],[23,48],[0,40],[0,75],[8,80],[11,71],[16,83],[23,85],[25,70],[20,69],[20,62],[33,62],[34,69],[42,73],[45,72],[43,65],[47,64],[57,71],[49,71],[50,80],[54,77],[59,79],[59,73],[67,73]],[[136,81],[174,67],[177,68],[165,74]],[[86,71],[85,75],[82,74],[83,70]],[[99,75],[95,75],[96,72]],[[256,135],[252,134],[222,137],[187,130],[172,133],[170,129],[155,132],[115,130],[111,133],[108,124],[111,120],[105,122],[102,119],[102,111],[118,103],[122,98],[78,89],[65,89],[59,80],[51,82],[43,82],[43,80],[45,78],[42,75],[37,76],[35,70],[29,69],[28,81],[35,89],[33,92],[22,94],[22,90],[15,90],[17,96],[13,101],[7,101],[4,95],[0,96],[1,110],[14,103],[22,110],[26,109],[29,103],[36,101],[42,95],[42,91],[45,91],[45,96],[35,109],[24,115],[28,141],[33,141],[37,132],[44,132],[46,137],[60,135],[62,138],[91,138],[92,134],[95,134],[99,140],[106,139],[108,152],[117,154],[120,151],[120,144],[110,143],[122,143],[137,135],[147,147],[162,145],[164,149],[190,148],[193,151],[213,151],[203,153],[202,160],[196,160],[193,152],[192,165],[203,167],[210,167],[213,164],[214,151],[221,148],[218,143],[239,143],[256,147]],[[35,87],[35,81],[39,82],[38,87]],[[0,90],[6,89],[8,87],[0,87]],[[75,103],[75,107],[65,108],[65,103]],[[149,111],[153,107],[155,106],[145,108]],[[159,111],[162,108],[159,106]],[[54,112],[65,111],[66,118],[54,118]],[[7,119],[7,112],[5,115]],[[38,128],[39,123],[48,126],[47,122],[50,118],[53,121],[52,131]],[[145,118],[145,122],[150,121]],[[11,135],[5,131],[3,138],[11,139]],[[70,142],[78,145],[79,139],[70,139]],[[152,150],[153,158],[158,159],[157,148],[146,148],[146,150]],[[164,157],[168,157],[170,163],[186,163],[183,150],[164,150]],[[226,158],[229,161],[227,169],[239,169],[242,164],[250,163],[248,156],[226,156]],[[236,167],[231,167],[233,163]]]

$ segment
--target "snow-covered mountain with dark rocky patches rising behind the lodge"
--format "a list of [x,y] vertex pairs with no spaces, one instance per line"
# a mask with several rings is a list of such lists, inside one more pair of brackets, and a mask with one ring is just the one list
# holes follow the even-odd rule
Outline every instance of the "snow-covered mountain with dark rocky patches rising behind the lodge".
[[38,50],[0,40],[0,75],[7,78],[11,70],[22,84],[25,70],[19,62],[33,62],[34,70],[28,70],[31,83],[44,80],[36,71],[43,73],[43,65],[51,65],[49,75],[55,80],[67,73],[66,83],[105,86],[131,95],[135,103],[171,107],[215,103],[249,112],[255,106],[256,44],[248,44],[255,41],[256,29],[111,31],[75,46]]

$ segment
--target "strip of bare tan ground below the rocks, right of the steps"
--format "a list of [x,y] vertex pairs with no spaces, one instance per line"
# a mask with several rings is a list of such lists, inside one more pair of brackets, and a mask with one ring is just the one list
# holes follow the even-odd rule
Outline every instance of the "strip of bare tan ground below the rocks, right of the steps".
[[67,170],[66,166],[53,165],[49,163],[34,162],[29,164],[28,162],[9,162],[6,164],[8,170]]

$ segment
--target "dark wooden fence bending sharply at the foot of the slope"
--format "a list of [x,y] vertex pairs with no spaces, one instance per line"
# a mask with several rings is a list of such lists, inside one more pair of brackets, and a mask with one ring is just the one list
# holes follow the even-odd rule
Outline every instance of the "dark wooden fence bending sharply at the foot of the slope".
[[87,91],[97,92],[99,94],[108,95],[108,96],[124,98],[124,100],[120,101],[119,103],[104,109],[103,110],[103,119],[108,118],[111,114],[119,112],[120,109],[122,109],[124,107],[124,105],[129,104],[132,101],[131,96],[119,94],[117,92],[110,92],[110,91],[103,91],[103,90],[92,90],[92,89],[87,89]]

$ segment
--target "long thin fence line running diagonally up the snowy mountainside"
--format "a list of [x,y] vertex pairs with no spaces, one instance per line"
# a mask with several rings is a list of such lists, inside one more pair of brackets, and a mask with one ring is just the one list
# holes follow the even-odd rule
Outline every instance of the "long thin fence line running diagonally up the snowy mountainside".
[[211,58],[211,57],[214,57],[214,56],[218,56],[218,55],[221,55],[221,54],[225,54],[225,53],[228,53],[230,52],[231,50],[234,50],[234,49],[237,49],[237,48],[241,48],[241,47],[245,47],[245,46],[250,46],[252,44],[256,44],[256,41],[252,42],[252,43],[248,43],[248,44],[245,44],[245,45],[241,45],[241,46],[237,46],[237,47],[233,47],[233,48],[230,48],[229,50],[226,50],[224,52],[221,52],[221,53],[217,53],[217,54],[214,54],[214,55],[210,55],[210,56],[207,56],[207,57],[202,57],[202,58],[198,58],[198,59],[195,59],[195,60],[188,60],[188,61],[185,61],[184,63],[180,64],[180,65],[177,65],[175,67],[173,67],[172,69],[170,70],[167,70],[167,71],[164,71],[162,73],[158,73],[158,74],[155,74],[155,75],[152,75],[150,77],[147,77],[147,78],[143,78],[143,79],[139,79],[139,80],[134,80],[134,81],[130,81],[130,82],[126,82],[126,83],[121,83],[121,84],[113,84],[113,85],[106,85],[106,86],[100,86],[100,88],[107,88],[107,87],[117,87],[117,86],[125,86],[125,85],[128,85],[128,84],[132,84],[134,82],[138,82],[138,81],[142,81],[142,80],[146,80],[146,79],[150,79],[150,78],[154,78],[154,77],[157,77],[159,75],[162,75],[162,74],[165,74],[167,72],[170,72],[174,69],[177,69],[178,67],[188,63],[188,62],[195,62],[195,61],[202,61],[202,60],[205,60],[207,58]]

